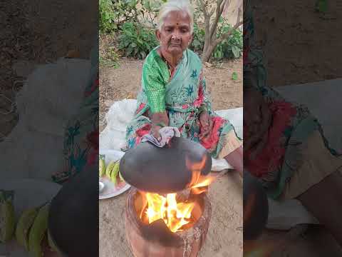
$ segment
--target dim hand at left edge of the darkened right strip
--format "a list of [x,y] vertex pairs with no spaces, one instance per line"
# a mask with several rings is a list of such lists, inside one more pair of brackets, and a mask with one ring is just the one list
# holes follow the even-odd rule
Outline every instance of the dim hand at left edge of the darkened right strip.
[[247,126],[248,137],[245,138],[244,149],[257,150],[264,148],[271,126],[271,111],[259,91],[250,89],[244,96],[244,125]]

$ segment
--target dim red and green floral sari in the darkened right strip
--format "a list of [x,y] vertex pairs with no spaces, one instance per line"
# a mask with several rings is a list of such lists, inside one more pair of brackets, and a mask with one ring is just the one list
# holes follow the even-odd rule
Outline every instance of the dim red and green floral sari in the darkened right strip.
[[[286,183],[289,183],[294,173],[301,167],[301,146],[314,133],[321,134],[324,146],[333,156],[338,156],[338,153],[328,146],[321,125],[306,106],[286,101],[279,93],[266,85],[267,74],[263,53],[254,43],[252,6],[249,1],[245,4],[244,16],[247,19],[244,21],[244,76],[253,74],[252,76],[257,79],[257,83],[252,86],[264,97],[273,120],[266,146],[253,158],[252,152],[244,151],[244,165],[252,175],[259,178],[269,197],[276,199],[281,196]],[[244,86],[247,84],[244,83]],[[248,138],[249,134],[244,126],[244,140],[247,141]],[[336,163],[338,166],[337,161]]]

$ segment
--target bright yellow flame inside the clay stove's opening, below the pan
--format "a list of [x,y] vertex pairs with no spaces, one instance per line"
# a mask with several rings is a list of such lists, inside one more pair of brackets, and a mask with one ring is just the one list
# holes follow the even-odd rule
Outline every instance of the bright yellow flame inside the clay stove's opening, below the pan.
[[182,226],[190,222],[195,203],[177,203],[176,193],[168,193],[166,197],[157,193],[145,193],[145,196],[148,206],[145,214],[148,223],[161,218],[170,231],[176,232],[181,231]]

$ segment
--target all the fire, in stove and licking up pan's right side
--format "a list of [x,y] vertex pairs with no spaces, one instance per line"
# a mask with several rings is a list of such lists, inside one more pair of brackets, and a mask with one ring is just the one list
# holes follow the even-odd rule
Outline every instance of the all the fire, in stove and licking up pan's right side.
[[[192,163],[189,158],[186,159],[187,168],[192,171],[192,179],[187,187],[192,189],[193,194],[207,191],[207,186],[217,178],[211,174],[201,176],[206,161],[207,156],[204,156],[198,163]],[[147,220],[150,224],[162,219],[167,228],[174,233],[182,231],[182,226],[192,221],[192,210],[195,208],[195,202],[177,202],[177,193],[168,193],[166,196],[161,196],[158,193],[140,193],[142,193],[143,201],[140,218],[143,221]]]

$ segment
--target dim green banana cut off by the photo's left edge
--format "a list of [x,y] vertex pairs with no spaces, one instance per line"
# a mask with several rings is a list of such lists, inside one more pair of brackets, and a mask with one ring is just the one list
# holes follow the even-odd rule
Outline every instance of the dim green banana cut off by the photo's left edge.
[[13,197],[13,191],[0,191],[0,242],[3,243],[11,240],[16,227]]

